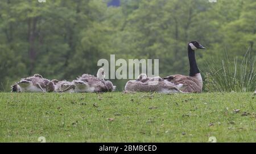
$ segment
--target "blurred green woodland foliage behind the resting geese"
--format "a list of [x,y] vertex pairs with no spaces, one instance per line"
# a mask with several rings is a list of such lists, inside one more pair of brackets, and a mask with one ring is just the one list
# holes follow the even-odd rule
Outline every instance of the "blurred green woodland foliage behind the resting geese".
[[[73,80],[96,74],[99,59],[159,59],[160,76],[188,74],[187,43],[207,47],[196,53],[219,63],[226,52],[242,60],[255,56],[254,0],[101,0],[0,1],[0,90],[21,77]],[[126,80],[113,81],[123,90]]]

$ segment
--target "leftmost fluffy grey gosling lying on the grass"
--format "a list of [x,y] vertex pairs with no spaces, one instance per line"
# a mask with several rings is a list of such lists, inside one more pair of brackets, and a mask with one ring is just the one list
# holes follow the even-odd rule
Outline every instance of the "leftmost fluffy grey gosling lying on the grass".
[[22,78],[12,86],[13,92],[52,92],[54,91],[53,82],[43,78],[39,74],[32,77]]

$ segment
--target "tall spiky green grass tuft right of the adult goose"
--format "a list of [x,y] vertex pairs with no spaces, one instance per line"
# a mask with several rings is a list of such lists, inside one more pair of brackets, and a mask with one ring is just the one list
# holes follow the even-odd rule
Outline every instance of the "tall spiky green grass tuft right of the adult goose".
[[256,88],[256,57],[250,55],[251,48],[246,51],[243,59],[237,57],[229,60],[228,54],[219,64],[207,64],[205,90],[218,92],[246,92]]

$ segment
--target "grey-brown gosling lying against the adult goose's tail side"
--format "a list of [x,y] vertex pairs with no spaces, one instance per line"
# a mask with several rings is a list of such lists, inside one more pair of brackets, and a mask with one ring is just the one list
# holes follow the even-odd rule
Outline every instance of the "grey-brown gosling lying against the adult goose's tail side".
[[160,77],[148,78],[141,74],[137,80],[130,80],[125,85],[125,91],[158,92],[158,93],[183,93],[180,89],[182,84],[175,85]]

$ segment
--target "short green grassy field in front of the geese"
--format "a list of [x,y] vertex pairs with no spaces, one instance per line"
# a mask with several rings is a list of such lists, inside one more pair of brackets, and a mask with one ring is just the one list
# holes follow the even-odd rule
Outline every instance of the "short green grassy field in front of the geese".
[[255,109],[252,93],[0,93],[0,142],[255,142]]

